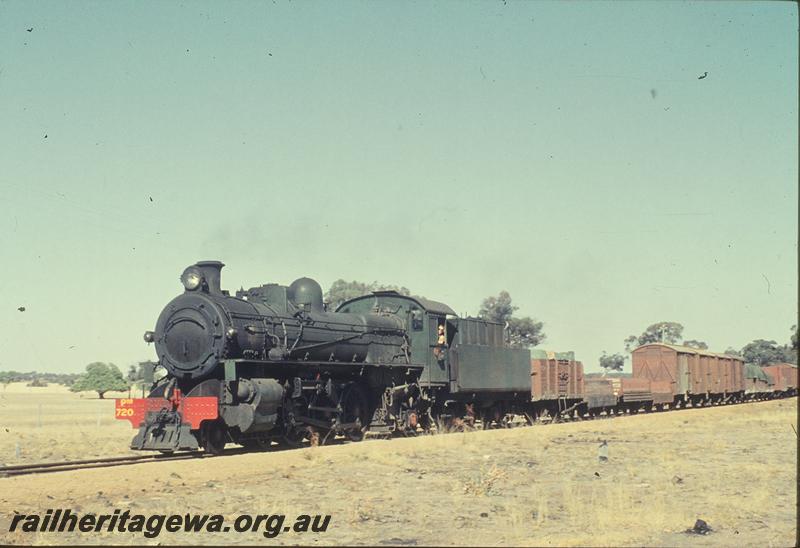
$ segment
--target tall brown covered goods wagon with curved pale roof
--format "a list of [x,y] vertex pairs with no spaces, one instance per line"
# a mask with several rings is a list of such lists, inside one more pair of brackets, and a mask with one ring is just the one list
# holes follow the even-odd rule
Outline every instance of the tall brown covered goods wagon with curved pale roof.
[[739,357],[663,343],[640,346],[631,355],[634,378],[669,383],[675,404],[744,395],[744,362]]

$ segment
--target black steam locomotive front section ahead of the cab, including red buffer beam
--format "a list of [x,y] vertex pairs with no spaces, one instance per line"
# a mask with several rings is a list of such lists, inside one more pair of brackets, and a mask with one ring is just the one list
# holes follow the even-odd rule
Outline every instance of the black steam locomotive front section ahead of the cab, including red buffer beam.
[[186,268],[184,292],[144,335],[167,375],[149,397],[117,401],[117,417],[139,428],[133,449],[219,453],[227,442],[258,448],[416,427],[422,366],[411,363],[401,318],[328,312],[310,278],[232,296],[221,289],[223,266]]

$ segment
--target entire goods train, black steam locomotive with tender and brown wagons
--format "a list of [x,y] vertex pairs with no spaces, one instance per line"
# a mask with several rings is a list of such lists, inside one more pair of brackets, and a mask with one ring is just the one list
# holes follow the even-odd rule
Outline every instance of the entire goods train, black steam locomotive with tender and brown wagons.
[[512,348],[504,326],[446,304],[376,291],[335,312],[310,278],[221,288],[218,261],[189,266],[184,291],[144,339],[166,376],[147,398],[120,399],[133,449],[218,454],[226,443],[325,443],[414,434],[434,425],[486,428],[797,394],[797,367],[649,344],[631,378],[585,376],[571,352]]

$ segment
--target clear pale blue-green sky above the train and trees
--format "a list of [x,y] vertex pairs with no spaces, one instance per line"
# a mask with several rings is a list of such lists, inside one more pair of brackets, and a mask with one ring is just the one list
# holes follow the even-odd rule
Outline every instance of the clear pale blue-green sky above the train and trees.
[[505,289],[590,370],[657,321],[783,343],[797,28],[770,2],[2,2],[0,369],[154,357],[203,259],[472,314]]

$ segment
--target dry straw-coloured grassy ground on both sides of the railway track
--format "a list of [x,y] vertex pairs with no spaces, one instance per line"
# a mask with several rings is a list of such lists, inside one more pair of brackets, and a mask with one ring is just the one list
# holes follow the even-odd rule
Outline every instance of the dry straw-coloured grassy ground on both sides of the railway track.
[[[11,390],[11,388],[9,388]],[[0,388],[0,394],[2,388]],[[0,399],[0,461],[124,454],[113,402]],[[19,399],[18,399],[19,396]],[[59,404],[58,400],[62,400]],[[47,403],[50,402],[50,403]],[[97,426],[97,411],[108,414]],[[72,413],[72,414],[70,414]],[[10,425],[10,426],[9,426]],[[797,399],[0,479],[4,544],[793,546]],[[6,431],[8,428],[9,431]],[[598,446],[608,443],[608,461]],[[82,447],[88,451],[82,453]],[[24,460],[19,461],[24,462]],[[14,512],[329,514],[326,532],[9,532]],[[698,518],[706,536],[684,531]]]

